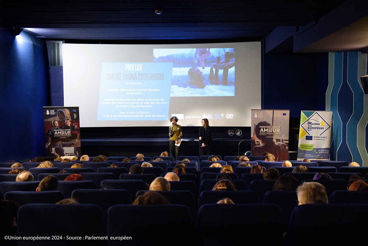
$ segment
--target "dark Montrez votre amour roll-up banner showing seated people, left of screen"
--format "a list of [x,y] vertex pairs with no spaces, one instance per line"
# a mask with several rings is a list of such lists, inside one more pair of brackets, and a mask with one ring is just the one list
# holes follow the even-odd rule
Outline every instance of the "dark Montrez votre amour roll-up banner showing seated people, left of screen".
[[46,156],[80,156],[79,107],[43,107]]

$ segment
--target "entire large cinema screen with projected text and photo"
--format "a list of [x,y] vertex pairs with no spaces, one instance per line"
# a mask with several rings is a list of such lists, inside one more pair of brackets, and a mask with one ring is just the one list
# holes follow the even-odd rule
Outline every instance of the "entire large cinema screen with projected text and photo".
[[80,127],[250,126],[261,108],[261,42],[63,43],[64,106]]

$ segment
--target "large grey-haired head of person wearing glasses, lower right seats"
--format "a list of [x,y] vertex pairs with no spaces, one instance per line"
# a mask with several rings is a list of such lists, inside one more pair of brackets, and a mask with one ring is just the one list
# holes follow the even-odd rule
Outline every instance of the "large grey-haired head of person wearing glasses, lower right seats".
[[304,182],[297,188],[298,205],[311,203],[328,204],[325,186],[318,182]]

